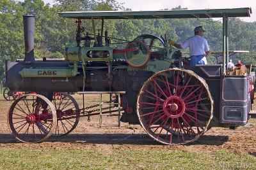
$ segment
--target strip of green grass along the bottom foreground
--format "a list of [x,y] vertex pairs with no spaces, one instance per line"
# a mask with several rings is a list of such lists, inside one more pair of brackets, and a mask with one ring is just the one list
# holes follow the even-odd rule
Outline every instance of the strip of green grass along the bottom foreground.
[[243,153],[177,150],[1,148],[0,169],[255,169]]

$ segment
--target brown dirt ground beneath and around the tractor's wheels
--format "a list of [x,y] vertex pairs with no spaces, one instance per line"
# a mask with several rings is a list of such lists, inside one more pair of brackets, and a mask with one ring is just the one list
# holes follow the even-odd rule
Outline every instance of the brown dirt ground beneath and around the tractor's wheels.
[[[81,96],[76,96],[81,104]],[[86,104],[96,104],[97,96],[86,97]],[[165,146],[149,138],[140,125],[121,123],[121,127],[99,127],[99,116],[94,116],[88,122],[81,118],[76,129],[69,135],[61,138],[49,138],[44,143],[20,143],[13,138],[8,129],[6,115],[12,102],[0,97],[0,147],[12,148],[102,148],[111,152],[113,148],[143,148],[184,150],[193,152],[213,152],[216,150],[230,150],[232,152],[245,152],[256,155],[256,120],[251,119],[250,126],[239,127],[236,130],[225,128],[212,128],[198,141],[188,145]],[[116,117],[104,120],[116,122]]]

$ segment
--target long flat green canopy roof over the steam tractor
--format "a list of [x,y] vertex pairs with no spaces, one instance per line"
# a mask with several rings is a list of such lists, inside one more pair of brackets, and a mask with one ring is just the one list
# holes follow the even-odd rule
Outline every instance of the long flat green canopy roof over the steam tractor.
[[60,17],[81,19],[151,19],[151,18],[219,18],[250,17],[252,8],[214,10],[163,10],[163,11],[69,11],[60,12]]

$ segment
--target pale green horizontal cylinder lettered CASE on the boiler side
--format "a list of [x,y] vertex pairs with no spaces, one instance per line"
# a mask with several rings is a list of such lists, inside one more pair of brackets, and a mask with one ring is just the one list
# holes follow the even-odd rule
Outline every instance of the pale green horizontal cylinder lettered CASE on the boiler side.
[[[76,66],[75,66],[76,67]],[[79,72],[76,68],[29,68],[19,72],[22,78],[74,77]]]

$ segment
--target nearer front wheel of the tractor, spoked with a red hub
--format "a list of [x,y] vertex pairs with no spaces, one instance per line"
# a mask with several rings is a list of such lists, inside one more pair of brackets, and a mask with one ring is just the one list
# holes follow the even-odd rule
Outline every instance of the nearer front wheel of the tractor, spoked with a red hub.
[[[13,102],[8,112],[8,125],[16,139],[40,143],[55,131],[57,116],[54,105],[44,96],[27,94]],[[43,132],[46,129],[47,132]]]

